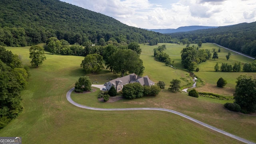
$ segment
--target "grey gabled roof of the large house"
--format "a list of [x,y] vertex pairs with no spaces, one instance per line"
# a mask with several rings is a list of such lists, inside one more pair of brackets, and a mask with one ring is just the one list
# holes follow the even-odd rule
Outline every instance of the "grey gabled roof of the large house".
[[130,74],[127,76],[124,76],[122,78],[116,78],[114,80],[110,80],[110,83],[114,84],[114,85],[118,85],[119,82],[122,82],[122,84],[127,84],[127,83],[134,83],[134,82],[139,82],[142,86],[151,86],[152,84],[154,84],[154,82],[152,80],[150,80],[148,78],[148,76],[137,76],[136,74]]

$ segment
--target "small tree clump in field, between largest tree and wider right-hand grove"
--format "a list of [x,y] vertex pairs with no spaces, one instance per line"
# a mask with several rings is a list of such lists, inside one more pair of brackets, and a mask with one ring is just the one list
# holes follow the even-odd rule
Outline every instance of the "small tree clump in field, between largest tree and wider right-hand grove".
[[160,62],[164,62],[167,66],[170,64],[173,64],[174,61],[169,57],[168,54],[164,52],[166,50],[166,46],[158,46],[158,48],[154,48],[154,57],[156,60],[159,60]]

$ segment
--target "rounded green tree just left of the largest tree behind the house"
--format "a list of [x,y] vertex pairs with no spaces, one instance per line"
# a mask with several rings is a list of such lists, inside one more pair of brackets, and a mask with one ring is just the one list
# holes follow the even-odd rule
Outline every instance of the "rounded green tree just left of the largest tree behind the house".
[[102,61],[103,58],[101,55],[88,54],[86,57],[84,57],[84,60],[82,60],[80,66],[83,67],[86,72],[99,72],[104,69]]

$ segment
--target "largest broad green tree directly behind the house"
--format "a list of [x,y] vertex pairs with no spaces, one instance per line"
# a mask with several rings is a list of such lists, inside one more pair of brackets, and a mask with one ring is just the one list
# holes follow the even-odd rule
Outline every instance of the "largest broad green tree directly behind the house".
[[144,72],[143,62],[139,55],[130,49],[118,49],[110,56],[109,62],[114,72],[121,73],[122,76],[127,72],[140,76]]

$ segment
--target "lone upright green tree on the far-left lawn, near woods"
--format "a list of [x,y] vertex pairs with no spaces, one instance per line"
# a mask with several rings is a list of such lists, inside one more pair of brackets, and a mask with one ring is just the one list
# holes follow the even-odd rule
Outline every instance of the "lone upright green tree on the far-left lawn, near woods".
[[29,49],[29,58],[31,58],[31,65],[38,67],[43,64],[43,61],[46,60],[44,55],[44,48],[41,46],[31,46]]

